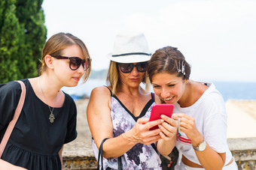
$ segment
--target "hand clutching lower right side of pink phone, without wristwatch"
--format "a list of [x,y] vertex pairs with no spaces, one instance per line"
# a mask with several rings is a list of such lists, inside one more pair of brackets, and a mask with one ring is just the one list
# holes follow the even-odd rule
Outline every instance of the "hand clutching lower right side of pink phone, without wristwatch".
[[160,128],[160,136],[164,141],[170,141],[173,136],[176,136],[178,121],[175,121],[173,118],[169,118],[166,115],[161,115],[163,123],[158,125]]

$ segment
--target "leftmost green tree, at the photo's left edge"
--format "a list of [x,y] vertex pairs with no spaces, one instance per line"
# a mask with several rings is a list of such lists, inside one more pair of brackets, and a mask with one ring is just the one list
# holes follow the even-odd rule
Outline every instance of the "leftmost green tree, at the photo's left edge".
[[18,46],[20,45],[19,20],[15,15],[16,0],[0,1],[0,81],[8,82],[20,77],[17,67]]

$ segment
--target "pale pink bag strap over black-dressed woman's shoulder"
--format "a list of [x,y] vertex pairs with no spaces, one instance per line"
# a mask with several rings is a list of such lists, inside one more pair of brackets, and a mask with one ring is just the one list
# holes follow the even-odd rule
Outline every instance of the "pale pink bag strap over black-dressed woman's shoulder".
[[25,97],[26,97],[26,87],[24,85],[23,82],[21,82],[20,80],[17,81],[20,83],[20,86],[21,86],[21,94],[20,94],[20,100],[19,100],[19,103],[17,105],[17,108],[15,110],[15,113],[14,113],[14,118],[13,120],[9,123],[8,125],[8,128],[7,130],[5,131],[5,136],[3,137],[2,139],[2,142],[0,144],[0,157],[2,157],[2,154],[5,150],[5,146],[11,136],[11,132],[14,130],[14,126],[20,116],[20,112],[21,112],[21,109],[23,108],[23,103],[24,103],[24,100],[25,100]]

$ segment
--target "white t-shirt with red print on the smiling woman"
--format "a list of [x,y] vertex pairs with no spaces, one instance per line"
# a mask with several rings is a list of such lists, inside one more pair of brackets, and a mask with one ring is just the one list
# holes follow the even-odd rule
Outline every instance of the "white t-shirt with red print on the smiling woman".
[[[209,146],[218,153],[226,152],[226,163],[229,163],[232,154],[227,146],[227,112],[223,97],[215,85],[207,83],[209,88],[203,93],[194,105],[181,108],[178,103],[174,105],[174,113],[184,113],[195,119],[197,130],[203,135]],[[200,165],[190,139],[178,127],[176,147],[179,151],[178,164],[181,156]]]

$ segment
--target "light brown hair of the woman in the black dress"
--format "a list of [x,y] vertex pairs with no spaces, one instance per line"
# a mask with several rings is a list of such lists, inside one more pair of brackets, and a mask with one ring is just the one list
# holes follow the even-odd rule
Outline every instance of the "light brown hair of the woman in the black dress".
[[80,40],[78,37],[75,37],[74,35],[72,35],[70,33],[60,32],[58,34],[54,34],[44,44],[44,48],[42,50],[42,56],[41,56],[41,60],[40,60],[41,68],[38,70],[39,75],[44,73],[44,71],[47,69],[47,66],[44,61],[44,57],[46,55],[62,55],[63,49],[66,49],[66,47],[72,46],[72,45],[80,46],[80,48],[83,52],[84,59],[87,64],[87,68],[86,68],[86,71],[84,74],[84,82],[86,82],[90,75],[91,58],[90,58],[87,46],[85,46],[84,42],[82,40]]

